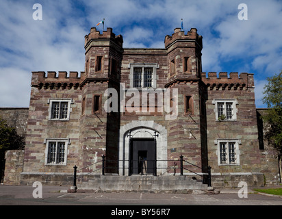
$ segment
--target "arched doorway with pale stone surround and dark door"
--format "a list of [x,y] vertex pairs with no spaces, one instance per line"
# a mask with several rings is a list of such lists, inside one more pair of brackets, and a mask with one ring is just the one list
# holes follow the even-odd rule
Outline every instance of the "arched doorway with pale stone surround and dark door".
[[[154,135],[156,135],[156,137],[154,137]],[[119,175],[140,173],[140,163],[138,163],[140,158],[147,160],[147,173],[162,175],[163,172],[166,172],[167,168],[166,128],[152,120],[133,120],[131,123],[123,125],[120,127],[118,153]],[[153,164],[154,158],[157,161],[155,164]],[[151,164],[148,164],[149,160],[152,160]],[[136,161],[134,168],[133,161]],[[148,165],[150,168],[148,168]],[[135,169],[134,172],[133,169]]]

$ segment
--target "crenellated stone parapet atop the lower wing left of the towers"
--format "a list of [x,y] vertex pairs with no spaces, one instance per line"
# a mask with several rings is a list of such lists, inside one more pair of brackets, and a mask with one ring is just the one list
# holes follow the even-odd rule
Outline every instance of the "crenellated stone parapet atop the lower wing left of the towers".
[[81,83],[85,79],[85,73],[81,72],[79,77],[78,72],[71,71],[69,75],[66,71],[59,71],[57,74],[54,71],[47,72],[37,71],[32,72],[31,87],[36,88],[50,88],[50,89],[77,89],[81,87]]

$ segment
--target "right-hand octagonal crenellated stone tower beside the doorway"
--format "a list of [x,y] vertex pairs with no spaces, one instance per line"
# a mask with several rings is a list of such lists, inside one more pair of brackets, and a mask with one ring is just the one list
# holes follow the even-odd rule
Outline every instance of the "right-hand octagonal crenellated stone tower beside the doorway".
[[[183,155],[189,161],[207,170],[205,130],[205,90],[201,86],[202,36],[192,28],[187,34],[176,28],[164,40],[167,50],[168,76],[166,88],[178,89],[178,117],[168,123],[168,155]],[[173,101],[173,99],[172,99]],[[170,131],[171,130],[171,131]],[[181,139],[181,140],[180,140]],[[195,170],[196,171],[196,170]]]

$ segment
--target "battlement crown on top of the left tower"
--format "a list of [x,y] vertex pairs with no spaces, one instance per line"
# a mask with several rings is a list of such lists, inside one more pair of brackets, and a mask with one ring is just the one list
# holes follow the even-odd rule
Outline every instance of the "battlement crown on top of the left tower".
[[112,40],[116,42],[120,47],[123,47],[123,36],[113,33],[112,28],[107,27],[107,31],[103,31],[100,34],[100,31],[96,29],[96,27],[92,27],[90,30],[90,34],[86,35],[85,37],[84,46],[91,41],[91,40]]

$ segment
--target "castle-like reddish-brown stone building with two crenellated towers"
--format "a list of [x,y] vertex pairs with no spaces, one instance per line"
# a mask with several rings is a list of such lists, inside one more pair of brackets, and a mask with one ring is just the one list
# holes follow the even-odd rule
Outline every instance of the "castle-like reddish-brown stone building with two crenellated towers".
[[211,166],[214,186],[264,185],[253,74],[202,73],[195,28],[164,45],[91,28],[84,72],[33,72],[21,183],[69,183],[74,166],[90,179],[105,155],[106,175],[179,175],[183,156],[184,175]]

